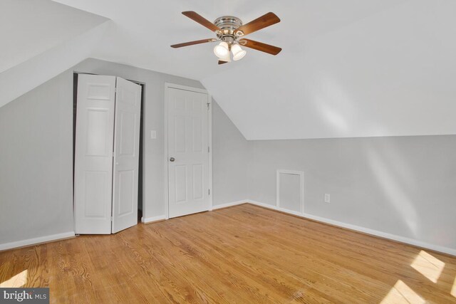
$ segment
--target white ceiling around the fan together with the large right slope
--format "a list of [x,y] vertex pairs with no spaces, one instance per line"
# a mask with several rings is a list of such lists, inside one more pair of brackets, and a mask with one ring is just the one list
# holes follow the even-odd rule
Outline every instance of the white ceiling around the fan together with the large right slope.
[[[112,19],[92,56],[201,80],[249,140],[456,134],[456,1],[58,0]],[[180,14],[278,23],[217,65],[213,34]]]

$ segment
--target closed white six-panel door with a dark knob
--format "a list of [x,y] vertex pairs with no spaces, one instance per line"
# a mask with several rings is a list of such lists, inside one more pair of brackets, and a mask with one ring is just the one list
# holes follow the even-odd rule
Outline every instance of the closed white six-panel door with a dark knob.
[[167,88],[169,217],[209,210],[208,95]]

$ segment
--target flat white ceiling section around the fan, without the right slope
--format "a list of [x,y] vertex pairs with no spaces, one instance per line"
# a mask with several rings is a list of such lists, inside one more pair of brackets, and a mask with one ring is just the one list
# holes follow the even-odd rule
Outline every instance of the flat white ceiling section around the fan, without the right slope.
[[[274,57],[248,51],[237,64],[218,66],[212,53],[214,43],[172,49],[171,44],[215,38],[214,33],[188,19],[182,11],[196,11],[209,21],[234,15],[247,23],[274,11],[281,23],[252,34],[249,38],[284,48],[283,56],[292,59],[291,48],[310,41],[348,23],[363,19],[404,0],[55,0],[113,20],[113,28],[101,41],[94,56],[110,61],[197,80],[210,78],[239,65],[257,60],[269,64]],[[285,51],[287,55],[285,55]],[[282,55],[282,54],[281,54]]]

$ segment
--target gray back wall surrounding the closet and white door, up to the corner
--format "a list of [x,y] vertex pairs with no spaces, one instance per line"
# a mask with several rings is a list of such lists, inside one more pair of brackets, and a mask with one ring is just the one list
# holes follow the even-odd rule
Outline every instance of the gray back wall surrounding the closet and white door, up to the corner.
[[[203,88],[196,80],[128,65],[87,59],[71,70],[0,108],[0,243],[73,231],[73,70],[117,75],[145,83],[143,142],[143,210],[145,217],[165,214],[165,82]],[[246,140],[216,105],[214,136],[214,204],[245,198]],[[220,122],[220,125],[219,125]],[[150,130],[157,139],[150,139]],[[226,136],[227,142],[218,140]],[[219,145],[224,145],[223,148]],[[229,166],[222,164],[229,159]],[[218,179],[218,178],[217,178]],[[229,192],[224,187],[230,184]],[[232,194],[232,195],[231,195]]]

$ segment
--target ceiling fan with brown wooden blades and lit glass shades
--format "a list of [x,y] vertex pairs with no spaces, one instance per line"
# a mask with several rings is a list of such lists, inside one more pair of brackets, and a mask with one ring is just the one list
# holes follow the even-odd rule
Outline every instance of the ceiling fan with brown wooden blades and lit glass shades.
[[276,46],[243,38],[249,33],[254,33],[255,31],[261,30],[261,28],[266,28],[267,26],[279,23],[280,19],[274,13],[269,12],[244,25],[242,24],[241,19],[234,16],[222,16],[215,19],[214,23],[212,23],[207,19],[204,19],[204,17],[200,16],[195,11],[182,11],[182,14],[194,21],[197,21],[197,23],[202,26],[209,28],[209,30],[213,31],[217,35],[217,38],[173,44],[171,46],[172,48],[182,48],[183,46],[193,46],[200,43],[221,41],[214,47],[214,53],[219,58],[219,64],[231,62],[230,51],[234,61],[242,59],[247,52],[243,50],[241,46],[254,48],[255,50],[269,53],[271,55],[277,55],[282,50]]

